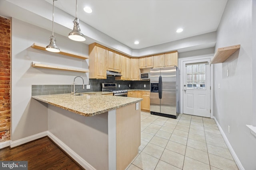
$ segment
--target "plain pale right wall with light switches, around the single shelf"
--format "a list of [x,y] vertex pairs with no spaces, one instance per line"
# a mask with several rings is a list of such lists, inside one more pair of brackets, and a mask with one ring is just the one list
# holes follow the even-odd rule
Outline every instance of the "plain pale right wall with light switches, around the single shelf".
[[239,51],[224,63],[214,64],[214,116],[244,169],[255,170],[256,138],[246,127],[252,124],[252,88],[255,88],[252,87],[252,0],[229,0],[217,30],[216,49],[238,44]]

